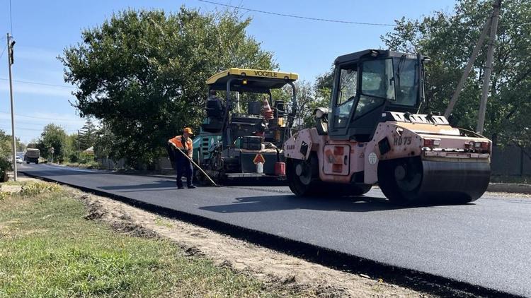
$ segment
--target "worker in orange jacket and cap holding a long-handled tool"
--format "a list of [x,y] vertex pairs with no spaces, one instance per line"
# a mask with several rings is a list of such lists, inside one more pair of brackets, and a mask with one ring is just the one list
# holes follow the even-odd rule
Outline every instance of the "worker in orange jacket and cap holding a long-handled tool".
[[[185,127],[182,136],[176,136],[175,138],[168,140],[168,144],[173,148],[173,160],[175,160],[175,167],[177,170],[176,182],[178,189],[184,189],[183,180],[181,180],[183,174],[186,176],[188,189],[195,189],[195,186],[192,183],[192,163],[183,155],[183,153],[185,153],[190,159],[192,158],[193,144],[192,139],[190,138],[192,135],[192,129],[190,129],[190,127]],[[178,152],[178,150],[181,150],[183,153]]]

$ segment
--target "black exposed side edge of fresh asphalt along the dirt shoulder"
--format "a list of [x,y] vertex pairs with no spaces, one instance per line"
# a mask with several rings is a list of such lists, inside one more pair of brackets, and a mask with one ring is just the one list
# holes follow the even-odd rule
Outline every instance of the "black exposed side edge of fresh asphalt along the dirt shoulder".
[[[46,166],[50,167],[50,166]],[[57,167],[54,167],[57,168]],[[69,171],[70,169],[64,169]],[[86,171],[87,174],[110,174],[109,172],[96,172],[90,170],[78,170]],[[525,294],[510,293],[500,290],[495,290],[490,287],[484,287],[481,285],[473,285],[470,282],[463,282],[453,278],[443,277],[441,275],[435,275],[432,273],[422,272],[421,270],[412,270],[401,266],[394,266],[388,263],[379,261],[372,261],[370,258],[361,256],[355,256],[353,254],[346,254],[342,251],[329,249],[316,244],[310,244],[308,242],[302,242],[297,239],[290,239],[288,237],[282,237],[278,234],[271,234],[267,232],[261,232],[259,230],[244,227],[241,225],[234,225],[228,222],[223,222],[215,218],[210,218],[202,215],[192,214],[183,210],[176,210],[175,208],[169,208],[166,206],[158,205],[156,203],[149,203],[146,201],[140,201],[137,198],[131,198],[126,194],[118,194],[115,191],[105,191],[95,187],[89,187],[83,185],[83,179],[77,179],[76,181],[66,181],[68,179],[61,179],[64,175],[46,174],[46,172],[35,171],[35,167],[23,168],[19,172],[22,172],[30,177],[36,177],[45,181],[59,182],[72,186],[82,191],[89,193],[95,193],[99,196],[105,196],[113,198],[135,207],[148,210],[153,213],[158,213],[168,217],[175,218],[177,220],[183,220],[190,222],[194,225],[206,227],[210,230],[215,230],[222,234],[227,234],[231,237],[243,239],[253,244],[265,246],[269,249],[274,249],[292,256],[304,258],[307,261],[319,263],[330,268],[337,270],[343,270],[355,274],[370,275],[372,278],[382,278],[386,282],[391,282],[396,285],[409,287],[413,290],[419,290],[428,292],[442,297],[523,297]],[[81,174],[82,172],[79,172]],[[73,174],[74,175],[74,174]],[[120,175],[122,176],[122,175]],[[130,177],[130,175],[127,175]],[[260,186],[263,191],[263,186]],[[233,189],[249,189],[249,191],[256,191],[253,188],[232,187]],[[204,188],[199,188],[200,189]],[[278,188],[276,188],[278,189]],[[283,192],[272,188],[272,192]]]

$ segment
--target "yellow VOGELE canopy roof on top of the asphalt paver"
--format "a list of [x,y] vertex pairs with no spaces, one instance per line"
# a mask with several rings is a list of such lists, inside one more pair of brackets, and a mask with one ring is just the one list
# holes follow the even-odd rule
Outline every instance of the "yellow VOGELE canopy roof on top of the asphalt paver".
[[210,90],[232,90],[253,93],[268,93],[270,89],[282,88],[299,78],[297,73],[265,71],[261,69],[229,68],[207,80]]

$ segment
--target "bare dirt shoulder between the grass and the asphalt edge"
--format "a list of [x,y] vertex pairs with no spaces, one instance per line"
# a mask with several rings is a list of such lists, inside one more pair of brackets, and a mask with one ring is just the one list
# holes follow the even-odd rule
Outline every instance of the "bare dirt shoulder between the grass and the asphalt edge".
[[65,186],[87,208],[87,220],[101,220],[134,237],[163,237],[190,257],[205,257],[265,282],[270,289],[287,287],[316,297],[430,297],[369,276],[344,273],[278,251],[212,232],[180,220]]

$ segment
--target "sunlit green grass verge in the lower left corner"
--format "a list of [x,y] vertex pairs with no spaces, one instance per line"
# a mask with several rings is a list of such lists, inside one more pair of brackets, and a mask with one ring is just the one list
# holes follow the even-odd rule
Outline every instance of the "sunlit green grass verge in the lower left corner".
[[0,297],[286,297],[164,239],[84,219],[69,193],[0,201]]

